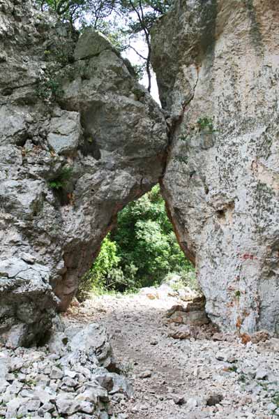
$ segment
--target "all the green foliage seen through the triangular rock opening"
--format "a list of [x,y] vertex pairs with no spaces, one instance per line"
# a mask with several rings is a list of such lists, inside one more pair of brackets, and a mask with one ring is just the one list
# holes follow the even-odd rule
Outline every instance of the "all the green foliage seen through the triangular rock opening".
[[[103,241],[82,288],[133,291],[160,284],[169,272],[187,276],[193,266],[176,241],[159,186],[154,186],[119,213],[117,228]],[[189,276],[187,280],[190,284]]]

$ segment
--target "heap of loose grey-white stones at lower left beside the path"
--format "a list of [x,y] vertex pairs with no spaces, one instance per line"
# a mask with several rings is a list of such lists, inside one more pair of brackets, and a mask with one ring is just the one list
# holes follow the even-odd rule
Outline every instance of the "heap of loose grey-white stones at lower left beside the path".
[[132,395],[116,370],[96,323],[56,332],[40,348],[2,347],[0,418],[113,418],[112,400]]

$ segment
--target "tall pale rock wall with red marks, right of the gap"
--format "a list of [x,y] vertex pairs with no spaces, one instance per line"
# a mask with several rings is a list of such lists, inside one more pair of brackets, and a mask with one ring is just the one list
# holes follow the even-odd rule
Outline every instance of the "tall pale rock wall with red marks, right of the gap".
[[279,333],[278,23],[274,0],[186,0],[153,29],[163,194],[224,330]]

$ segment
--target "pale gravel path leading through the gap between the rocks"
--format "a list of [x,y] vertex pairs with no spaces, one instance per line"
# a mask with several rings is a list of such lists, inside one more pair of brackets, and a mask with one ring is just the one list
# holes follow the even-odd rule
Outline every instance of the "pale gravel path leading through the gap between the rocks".
[[186,327],[165,316],[177,302],[169,296],[105,295],[68,311],[70,323],[96,321],[111,335],[116,360],[134,389],[129,400],[115,396],[116,417],[279,418],[279,339],[258,333],[258,343],[243,344],[211,325],[202,326],[197,339],[174,339],[170,335]]

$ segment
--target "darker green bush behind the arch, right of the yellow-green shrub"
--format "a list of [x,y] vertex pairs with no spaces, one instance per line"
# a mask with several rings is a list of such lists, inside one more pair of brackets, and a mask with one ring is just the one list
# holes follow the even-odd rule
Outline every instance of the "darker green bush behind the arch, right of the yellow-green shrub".
[[160,283],[168,272],[189,270],[167,217],[159,186],[121,211],[112,237],[118,246],[124,274],[134,265],[137,271],[133,280],[139,286]]

